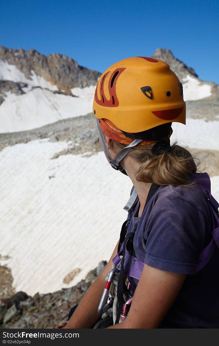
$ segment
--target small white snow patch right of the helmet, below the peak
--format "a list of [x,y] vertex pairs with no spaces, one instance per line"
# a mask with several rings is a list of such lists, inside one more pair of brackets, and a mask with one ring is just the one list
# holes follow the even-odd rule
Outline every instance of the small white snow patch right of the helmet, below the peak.
[[184,101],[195,101],[211,96],[211,85],[202,84],[189,74],[182,80]]

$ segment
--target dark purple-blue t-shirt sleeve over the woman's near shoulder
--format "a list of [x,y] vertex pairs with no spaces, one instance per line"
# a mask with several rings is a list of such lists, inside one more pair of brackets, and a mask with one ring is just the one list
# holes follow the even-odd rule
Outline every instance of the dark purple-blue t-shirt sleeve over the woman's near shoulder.
[[161,187],[140,226],[146,264],[194,274],[198,255],[211,238],[208,200],[198,184]]

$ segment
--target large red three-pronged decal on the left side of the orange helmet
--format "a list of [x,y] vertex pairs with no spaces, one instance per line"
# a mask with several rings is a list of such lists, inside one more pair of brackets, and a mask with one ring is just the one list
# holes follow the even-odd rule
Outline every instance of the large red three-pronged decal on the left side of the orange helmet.
[[106,72],[101,80],[99,79],[97,83],[97,88],[100,89],[100,100],[98,99],[97,96],[97,88],[95,91],[95,101],[100,104],[100,106],[104,107],[118,107],[119,106],[119,100],[116,95],[116,82],[120,76],[120,74],[126,69],[126,67],[121,67],[120,69],[116,69],[115,71],[112,72],[109,83],[108,83],[108,90],[110,94],[110,99],[107,100],[105,94],[104,94],[104,83],[106,81],[106,76],[110,73],[110,71]]

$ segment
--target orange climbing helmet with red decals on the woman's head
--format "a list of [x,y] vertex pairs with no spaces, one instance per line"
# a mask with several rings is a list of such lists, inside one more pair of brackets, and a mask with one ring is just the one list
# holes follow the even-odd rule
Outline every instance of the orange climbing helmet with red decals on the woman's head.
[[[100,76],[93,113],[104,133],[116,133],[113,139],[118,138],[118,131],[124,138],[143,139],[144,144],[152,137],[166,137],[170,135],[172,122],[185,124],[182,83],[161,60],[150,57],[121,60]],[[154,128],[163,134],[156,138]],[[124,138],[121,143],[125,143]]]

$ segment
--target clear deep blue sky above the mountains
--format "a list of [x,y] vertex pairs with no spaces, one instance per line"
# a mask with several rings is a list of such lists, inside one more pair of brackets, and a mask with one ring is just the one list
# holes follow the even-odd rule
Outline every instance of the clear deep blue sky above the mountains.
[[219,4],[200,1],[1,1],[0,45],[60,53],[103,72],[156,48],[219,83]]

